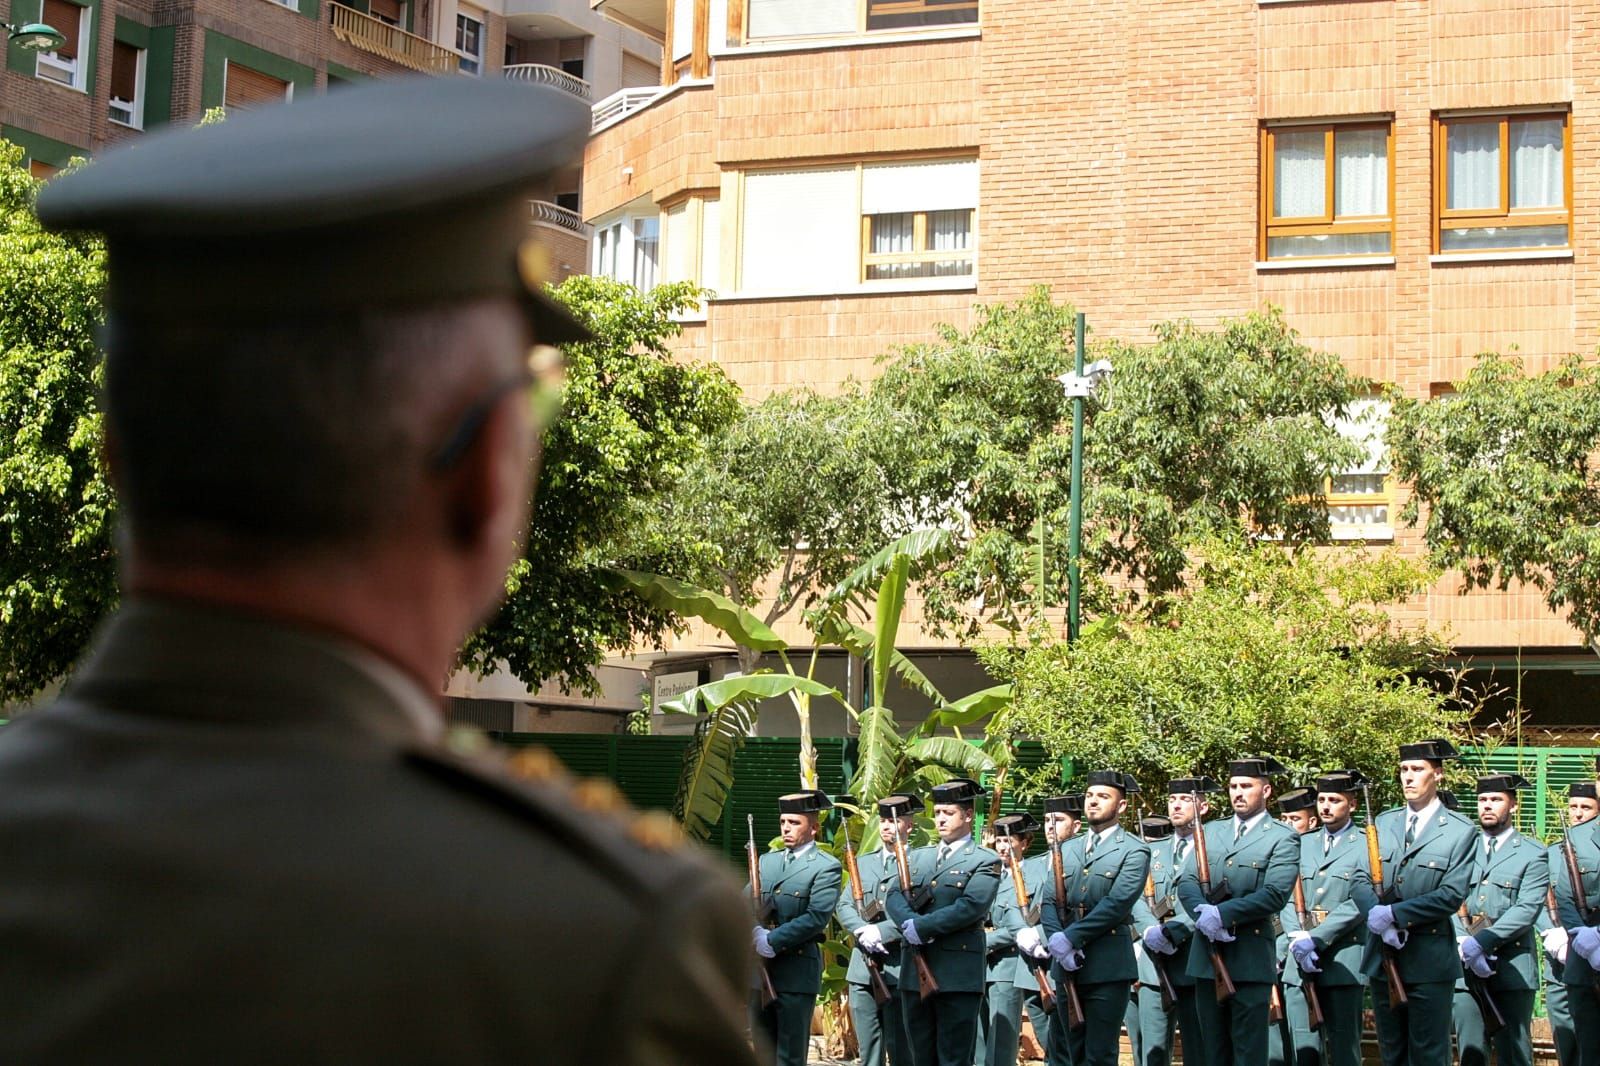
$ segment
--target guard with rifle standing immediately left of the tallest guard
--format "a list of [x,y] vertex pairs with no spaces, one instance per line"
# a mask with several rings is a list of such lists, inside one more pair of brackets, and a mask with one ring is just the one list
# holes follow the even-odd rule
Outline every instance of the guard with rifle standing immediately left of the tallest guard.
[[1362,999],[1366,991],[1362,949],[1366,943],[1366,911],[1376,903],[1373,879],[1366,872],[1366,840],[1354,821],[1363,784],[1365,778],[1355,770],[1317,778],[1322,828],[1299,839],[1301,892],[1310,920],[1301,924],[1293,900],[1282,911],[1288,936],[1285,1004],[1293,1007],[1298,1002],[1304,1015],[1306,986],[1314,984],[1323,1018],[1315,1034],[1320,1058],[1299,1058],[1296,1048],[1298,1063],[1362,1063]]

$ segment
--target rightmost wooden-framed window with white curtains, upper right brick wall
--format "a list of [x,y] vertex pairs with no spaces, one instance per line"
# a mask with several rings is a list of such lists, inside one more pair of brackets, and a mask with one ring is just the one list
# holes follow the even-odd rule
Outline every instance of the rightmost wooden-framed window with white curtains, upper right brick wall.
[[1434,118],[1434,251],[1571,246],[1565,110]]

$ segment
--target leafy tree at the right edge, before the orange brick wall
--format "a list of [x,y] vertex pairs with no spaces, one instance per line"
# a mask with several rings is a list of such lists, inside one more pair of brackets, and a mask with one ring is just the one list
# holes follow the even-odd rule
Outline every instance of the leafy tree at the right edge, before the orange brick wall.
[[1485,355],[1453,395],[1394,397],[1387,442],[1434,562],[1469,587],[1531,584],[1600,635],[1600,368]]

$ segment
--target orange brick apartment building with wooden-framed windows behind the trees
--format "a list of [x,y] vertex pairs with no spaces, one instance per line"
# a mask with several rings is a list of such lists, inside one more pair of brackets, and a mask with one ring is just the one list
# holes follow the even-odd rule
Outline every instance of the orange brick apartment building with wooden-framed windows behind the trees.
[[[594,2],[664,62],[597,123],[590,266],[715,290],[682,344],[749,395],[1035,283],[1134,341],[1277,304],[1411,395],[1600,339],[1600,3]],[[1421,551],[1381,448],[1331,488],[1341,538]],[[1538,594],[1446,578],[1414,613],[1520,658],[1539,723],[1600,725]]]

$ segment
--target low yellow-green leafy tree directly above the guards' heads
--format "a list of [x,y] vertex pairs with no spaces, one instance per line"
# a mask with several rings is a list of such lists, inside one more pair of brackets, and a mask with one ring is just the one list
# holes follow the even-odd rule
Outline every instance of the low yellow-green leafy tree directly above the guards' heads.
[[1158,621],[1104,618],[1075,645],[984,651],[1013,682],[997,728],[1141,781],[1219,776],[1229,759],[1262,752],[1296,779],[1355,767],[1387,781],[1400,743],[1470,720],[1459,682],[1440,691],[1419,677],[1445,643],[1386,610],[1427,587],[1424,567],[1224,541],[1202,557]]

